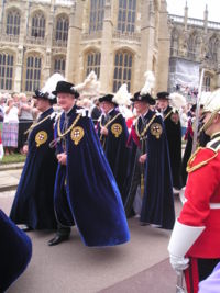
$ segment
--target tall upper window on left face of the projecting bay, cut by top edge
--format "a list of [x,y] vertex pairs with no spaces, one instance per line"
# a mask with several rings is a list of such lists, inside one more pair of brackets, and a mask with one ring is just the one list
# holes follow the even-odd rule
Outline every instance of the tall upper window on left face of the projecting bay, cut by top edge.
[[90,1],[89,33],[101,31],[103,26],[106,0]]

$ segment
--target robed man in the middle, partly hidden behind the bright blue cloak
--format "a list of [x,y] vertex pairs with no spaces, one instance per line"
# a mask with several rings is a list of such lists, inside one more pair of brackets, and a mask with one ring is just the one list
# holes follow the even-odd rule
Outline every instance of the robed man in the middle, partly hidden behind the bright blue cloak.
[[[99,99],[103,111],[109,111],[103,113],[98,122],[98,136],[124,202],[130,154],[130,149],[127,147],[129,132],[125,119],[117,110],[112,98],[112,94],[107,94]],[[102,128],[107,131],[106,134],[102,133]]]

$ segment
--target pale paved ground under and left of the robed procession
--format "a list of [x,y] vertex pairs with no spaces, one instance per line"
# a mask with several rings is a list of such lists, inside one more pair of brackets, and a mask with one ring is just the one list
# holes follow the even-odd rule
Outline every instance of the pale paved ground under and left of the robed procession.
[[[0,207],[9,214],[20,170],[0,170]],[[176,213],[180,210],[175,199]],[[33,257],[8,293],[175,293],[176,274],[168,262],[170,232],[129,219],[131,240],[110,248],[88,248],[76,228],[69,241],[48,247],[52,232],[29,233]]]

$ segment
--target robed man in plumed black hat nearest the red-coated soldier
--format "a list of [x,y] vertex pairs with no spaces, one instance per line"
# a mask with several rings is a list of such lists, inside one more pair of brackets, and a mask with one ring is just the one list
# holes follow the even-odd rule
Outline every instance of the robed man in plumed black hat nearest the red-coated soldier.
[[162,116],[150,110],[155,101],[150,94],[136,92],[131,99],[140,114],[132,126],[131,187],[125,201],[127,215],[140,215],[142,225],[154,224],[172,229],[175,222],[172,173],[166,133]]

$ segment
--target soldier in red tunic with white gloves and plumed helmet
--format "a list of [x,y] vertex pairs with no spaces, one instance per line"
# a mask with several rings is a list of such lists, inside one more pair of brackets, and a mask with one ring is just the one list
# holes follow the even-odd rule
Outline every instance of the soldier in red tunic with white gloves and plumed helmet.
[[198,292],[220,261],[220,90],[205,105],[204,131],[211,137],[188,161],[185,203],[168,251],[177,274],[185,270],[188,293]]

